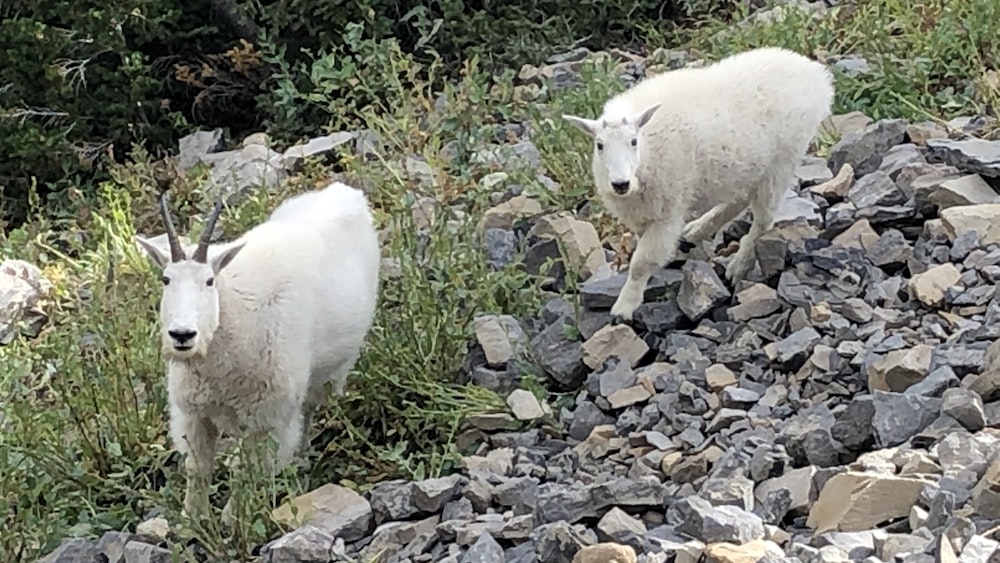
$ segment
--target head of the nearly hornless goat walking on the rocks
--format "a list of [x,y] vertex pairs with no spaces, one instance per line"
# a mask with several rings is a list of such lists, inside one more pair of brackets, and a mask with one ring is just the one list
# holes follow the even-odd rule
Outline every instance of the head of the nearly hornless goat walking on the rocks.
[[637,115],[611,119],[586,119],[564,115],[563,119],[579,127],[594,139],[592,166],[594,175],[607,182],[597,189],[616,196],[625,196],[637,189],[635,173],[639,169],[640,130],[649,123],[660,104],[650,106]]

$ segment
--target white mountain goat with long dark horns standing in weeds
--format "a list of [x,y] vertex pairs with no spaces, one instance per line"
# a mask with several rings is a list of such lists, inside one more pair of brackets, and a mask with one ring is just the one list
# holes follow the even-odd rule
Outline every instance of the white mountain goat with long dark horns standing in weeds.
[[324,383],[343,393],[372,325],[381,253],[368,200],[340,182],[210,246],[220,201],[193,250],[162,196],[160,206],[169,251],[136,238],[163,270],[170,437],[186,455],[184,508],[194,516],[208,506],[221,432],[270,435],[280,471],[307,437]]

